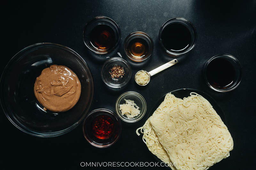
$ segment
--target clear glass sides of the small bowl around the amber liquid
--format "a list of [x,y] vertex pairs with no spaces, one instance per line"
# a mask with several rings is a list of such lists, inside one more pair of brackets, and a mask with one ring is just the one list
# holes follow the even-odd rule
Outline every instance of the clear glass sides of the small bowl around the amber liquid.
[[[147,46],[148,46],[148,52],[144,55],[144,56],[140,56],[140,57],[136,57],[134,55],[132,55],[129,50],[128,50],[128,46],[129,46],[129,43],[134,40],[135,38],[141,38],[142,40],[144,40],[146,43],[147,43]],[[134,33],[131,33],[129,34],[125,40],[124,40],[124,52],[125,54],[127,55],[127,57],[134,61],[134,62],[142,62],[144,60],[147,60],[151,54],[153,53],[153,50],[154,50],[154,43],[153,43],[153,40],[151,39],[151,37],[146,34],[146,33],[143,33],[143,32],[134,32]]]

